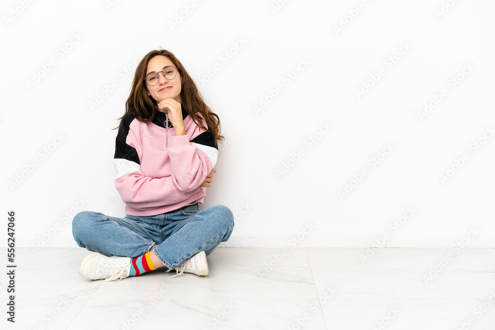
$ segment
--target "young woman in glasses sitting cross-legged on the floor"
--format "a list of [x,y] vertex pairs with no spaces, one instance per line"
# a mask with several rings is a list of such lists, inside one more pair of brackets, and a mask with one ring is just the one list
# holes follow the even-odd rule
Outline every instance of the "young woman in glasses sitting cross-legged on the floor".
[[229,239],[224,205],[199,210],[211,187],[220,120],[173,53],[150,51],[136,68],[115,142],[115,187],[124,218],[82,211],[72,234],[93,251],[79,267],[90,280],[121,280],[165,267],[208,275],[208,256]]

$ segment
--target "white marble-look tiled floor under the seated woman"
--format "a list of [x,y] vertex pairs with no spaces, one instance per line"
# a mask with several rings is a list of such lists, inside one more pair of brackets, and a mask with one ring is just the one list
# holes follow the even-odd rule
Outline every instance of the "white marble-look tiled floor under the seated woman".
[[0,329],[495,329],[495,249],[217,247],[206,277],[111,282],[79,276],[89,253],[17,248],[16,323],[2,271]]

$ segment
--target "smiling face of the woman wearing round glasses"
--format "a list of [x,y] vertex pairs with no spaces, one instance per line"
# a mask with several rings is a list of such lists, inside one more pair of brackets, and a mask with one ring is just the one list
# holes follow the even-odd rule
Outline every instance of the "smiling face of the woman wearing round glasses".
[[[175,65],[172,63],[172,61],[165,56],[162,55],[157,55],[151,58],[148,62],[148,69],[146,70],[146,74],[150,72],[159,72],[159,71],[165,71],[167,69],[171,68],[165,68],[166,66],[171,66],[172,68],[175,67]],[[172,97],[175,99],[177,102],[182,104],[182,99],[181,99],[181,75],[179,74],[179,70],[174,69],[177,71],[177,75],[175,78],[168,80],[163,76],[163,74],[160,72],[158,73],[158,83],[154,86],[149,86],[146,85],[146,88],[148,89],[148,96],[153,97],[156,102],[160,102],[161,100],[167,98],[167,97]],[[170,87],[167,90],[163,90],[164,88]]]

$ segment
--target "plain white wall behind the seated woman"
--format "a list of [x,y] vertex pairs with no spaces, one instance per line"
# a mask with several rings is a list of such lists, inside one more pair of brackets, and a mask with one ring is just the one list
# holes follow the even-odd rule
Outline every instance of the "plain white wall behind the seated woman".
[[1,210],[16,212],[18,247],[77,247],[81,210],[125,216],[111,129],[135,64],[160,46],[221,119],[202,206],[236,215],[220,246],[495,246],[493,1],[4,2]]

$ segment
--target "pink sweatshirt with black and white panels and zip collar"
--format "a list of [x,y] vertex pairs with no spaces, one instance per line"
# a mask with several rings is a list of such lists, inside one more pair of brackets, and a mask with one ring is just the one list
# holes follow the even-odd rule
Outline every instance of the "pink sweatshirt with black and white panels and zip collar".
[[132,113],[122,118],[115,141],[115,188],[128,215],[150,216],[203,203],[206,189],[199,185],[215,166],[218,146],[184,106],[182,118],[186,135],[178,137],[163,112],[149,123]]

